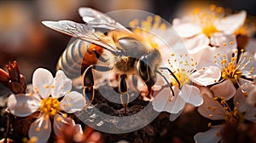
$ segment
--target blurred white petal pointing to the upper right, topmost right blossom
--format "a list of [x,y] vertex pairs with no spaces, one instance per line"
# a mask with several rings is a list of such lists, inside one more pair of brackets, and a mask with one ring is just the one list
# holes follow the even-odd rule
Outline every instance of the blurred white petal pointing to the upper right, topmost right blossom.
[[224,31],[227,34],[231,34],[243,25],[246,17],[246,11],[242,10],[238,14],[231,14],[221,20],[216,21],[216,27],[219,31]]

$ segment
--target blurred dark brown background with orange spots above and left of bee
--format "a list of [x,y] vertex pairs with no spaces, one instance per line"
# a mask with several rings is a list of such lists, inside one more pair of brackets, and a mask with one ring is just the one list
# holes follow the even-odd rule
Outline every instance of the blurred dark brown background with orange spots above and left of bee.
[[[55,73],[56,63],[66,49],[70,37],[52,31],[42,20],[74,20],[83,22],[79,7],[98,9],[103,13],[117,9],[141,9],[159,14],[172,23],[172,19],[191,5],[214,3],[232,10],[247,10],[255,15],[254,0],[6,0],[0,1],[0,67],[17,60],[20,72],[28,83],[32,72],[44,67]],[[5,69],[5,68],[4,68]]]

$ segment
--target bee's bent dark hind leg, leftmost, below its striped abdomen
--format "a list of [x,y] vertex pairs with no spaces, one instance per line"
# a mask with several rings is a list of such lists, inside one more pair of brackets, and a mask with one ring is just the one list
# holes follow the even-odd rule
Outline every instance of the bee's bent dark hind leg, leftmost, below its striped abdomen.
[[[84,98],[85,100],[89,100],[89,103],[92,102],[92,100],[94,99],[94,95],[95,95],[95,90],[93,88],[94,86],[94,73],[92,72],[92,69],[95,69],[97,71],[101,71],[101,72],[107,72],[110,70],[109,67],[106,66],[95,66],[95,65],[91,65],[89,67],[86,68],[86,70],[84,71],[83,74],[83,86],[84,86],[84,90],[83,90],[83,94],[84,94]],[[88,104],[89,105],[89,104]]]

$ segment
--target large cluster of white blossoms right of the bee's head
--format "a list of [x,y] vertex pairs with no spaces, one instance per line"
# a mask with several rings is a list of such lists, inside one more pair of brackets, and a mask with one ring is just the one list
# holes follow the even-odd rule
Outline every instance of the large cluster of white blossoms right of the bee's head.
[[238,128],[243,123],[256,123],[256,54],[254,45],[249,44],[255,27],[248,30],[244,10],[224,12],[224,8],[211,5],[172,20],[169,28],[181,39],[174,43],[163,40],[172,45],[171,49],[181,43],[186,49],[183,54],[166,55],[168,46],[161,46],[166,67],[173,72],[169,78],[174,94],[168,88],[162,89],[152,101],[154,110],[170,112],[172,121],[189,103],[199,106],[203,117],[225,121],[223,125],[209,123],[211,129],[195,134],[198,143],[222,140],[225,124]]

